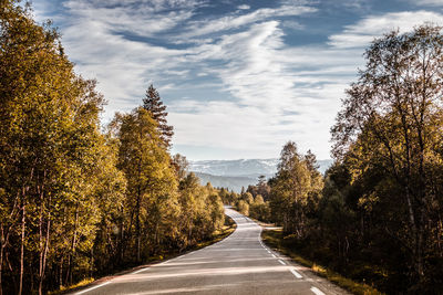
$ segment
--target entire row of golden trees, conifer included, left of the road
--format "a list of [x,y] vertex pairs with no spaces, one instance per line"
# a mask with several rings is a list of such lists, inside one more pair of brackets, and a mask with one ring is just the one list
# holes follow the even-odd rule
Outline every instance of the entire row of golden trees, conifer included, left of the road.
[[95,82],[31,14],[0,3],[0,294],[43,294],[210,239],[222,200],[171,156],[156,89],[101,130]]

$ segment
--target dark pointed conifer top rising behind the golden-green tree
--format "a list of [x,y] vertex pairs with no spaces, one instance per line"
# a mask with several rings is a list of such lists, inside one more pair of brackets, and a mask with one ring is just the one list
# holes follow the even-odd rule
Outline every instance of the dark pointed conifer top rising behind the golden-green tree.
[[171,147],[171,139],[174,135],[173,126],[167,125],[166,106],[163,104],[157,89],[151,84],[146,91],[146,97],[143,98],[143,108],[151,112],[151,116],[158,123],[158,131],[166,147]]

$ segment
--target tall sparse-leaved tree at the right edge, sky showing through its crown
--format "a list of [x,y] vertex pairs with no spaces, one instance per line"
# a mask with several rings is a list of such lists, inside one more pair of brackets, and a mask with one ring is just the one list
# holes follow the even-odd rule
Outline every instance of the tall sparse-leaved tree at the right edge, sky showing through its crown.
[[408,292],[442,283],[442,50],[439,27],[375,40],[332,128],[350,179],[331,202],[341,198],[341,212],[358,217],[349,219],[358,246],[408,277]]

